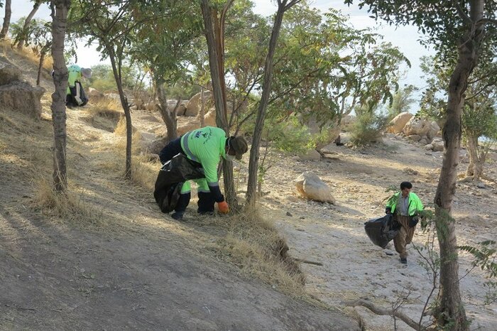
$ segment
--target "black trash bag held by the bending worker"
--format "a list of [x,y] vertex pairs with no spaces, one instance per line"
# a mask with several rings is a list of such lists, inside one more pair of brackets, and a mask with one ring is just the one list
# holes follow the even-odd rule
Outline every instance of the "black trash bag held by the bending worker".
[[200,163],[189,160],[180,153],[164,163],[155,180],[153,197],[162,212],[172,212],[178,204],[181,187],[186,180],[204,178]]

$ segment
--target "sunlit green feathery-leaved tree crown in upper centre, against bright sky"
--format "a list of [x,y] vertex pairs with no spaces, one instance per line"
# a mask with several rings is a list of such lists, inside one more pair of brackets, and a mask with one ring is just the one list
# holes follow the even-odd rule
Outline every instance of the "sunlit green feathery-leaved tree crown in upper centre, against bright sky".
[[269,116],[297,114],[302,124],[320,126],[331,142],[342,118],[357,106],[373,112],[378,104],[391,102],[400,65],[410,64],[398,48],[381,42],[376,33],[357,30],[341,13],[330,10],[324,18],[307,6],[295,6],[286,14],[275,54]]

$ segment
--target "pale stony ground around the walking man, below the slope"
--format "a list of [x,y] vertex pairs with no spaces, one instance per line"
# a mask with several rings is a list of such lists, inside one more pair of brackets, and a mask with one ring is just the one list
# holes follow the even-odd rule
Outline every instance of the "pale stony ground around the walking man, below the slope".
[[[420,266],[420,256],[411,246],[409,264],[403,266],[393,243],[392,256],[371,244],[364,232],[364,222],[383,215],[382,201],[389,195],[385,189],[402,180],[412,181],[413,190],[430,205],[436,189],[431,174],[441,165],[441,158],[437,153],[427,155],[422,149],[396,139],[387,139],[386,146],[362,153],[336,146],[328,149],[331,154],[327,155],[333,158],[329,163],[289,160],[278,163],[268,174],[265,186],[271,193],[266,196],[264,205],[272,209],[271,217],[285,233],[290,253],[323,264],[302,264],[307,274],[307,291],[330,305],[366,298],[378,306],[391,308],[408,287],[412,293],[403,311],[419,320],[431,290],[427,272]],[[398,161],[391,161],[390,156]],[[337,199],[336,205],[306,202],[296,197],[292,180],[304,170],[315,171],[328,183]],[[488,171],[496,177],[491,165]],[[497,238],[495,187],[487,185],[480,189],[474,184],[460,184],[454,205],[458,244]],[[476,211],[478,215],[466,217]],[[417,229],[414,243],[422,245],[426,239],[427,236]],[[462,253],[460,261],[460,275],[464,276],[471,268],[470,256]],[[486,294],[484,282],[484,274],[476,269],[461,281],[466,312],[474,319],[472,330],[477,327],[481,327],[479,330],[497,329],[497,304],[482,307]],[[371,330],[393,330],[391,318],[378,317],[365,308],[356,310]],[[403,322],[399,324],[399,330],[412,330]]]

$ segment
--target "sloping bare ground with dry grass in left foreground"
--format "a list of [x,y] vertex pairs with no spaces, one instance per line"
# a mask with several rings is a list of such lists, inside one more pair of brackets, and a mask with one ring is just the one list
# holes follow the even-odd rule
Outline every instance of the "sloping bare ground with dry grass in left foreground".
[[[35,65],[5,52],[32,80]],[[0,109],[1,330],[359,329],[249,278],[209,250],[201,224],[160,213],[149,190],[121,178],[116,135],[88,120],[92,106],[67,112],[70,211],[38,207],[51,173],[49,97],[41,121]]]

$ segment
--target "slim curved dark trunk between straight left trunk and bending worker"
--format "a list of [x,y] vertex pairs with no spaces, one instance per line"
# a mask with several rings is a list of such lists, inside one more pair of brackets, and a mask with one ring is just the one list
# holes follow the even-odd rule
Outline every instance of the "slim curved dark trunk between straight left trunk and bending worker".
[[131,178],[132,175],[131,143],[133,141],[133,126],[131,125],[131,109],[129,108],[129,103],[128,99],[126,98],[126,94],[124,94],[121,77],[119,76],[119,70],[116,65],[116,52],[114,51],[114,46],[106,42],[105,48],[107,48],[107,52],[109,53],[109,59],[111,60],[111,65],[112,65],[112,72],[114,72],[114,80],[116,80],[117,91],[119,92],[119,99],[121,99],[121,106],[123,107],[124,117],[126,118],[126,170],[124,173],[124,177]]

